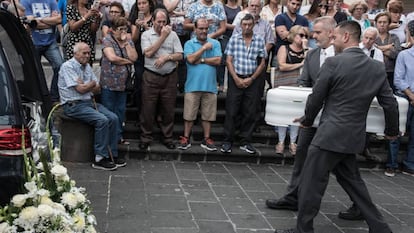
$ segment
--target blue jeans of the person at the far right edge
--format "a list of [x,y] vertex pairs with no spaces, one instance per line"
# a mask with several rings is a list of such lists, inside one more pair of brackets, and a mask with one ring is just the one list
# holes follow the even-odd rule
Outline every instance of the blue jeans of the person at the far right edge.
[[[403,160],[403,164],[406,168],[414,170],[414,106],[408,106],[407,112],[407,131],[408,131],[408,146],[407,156]],[[398,150],[400,149],[400,140],[391,140],[390,149],[388,151],[388,159],[386,167],[398,168]]]

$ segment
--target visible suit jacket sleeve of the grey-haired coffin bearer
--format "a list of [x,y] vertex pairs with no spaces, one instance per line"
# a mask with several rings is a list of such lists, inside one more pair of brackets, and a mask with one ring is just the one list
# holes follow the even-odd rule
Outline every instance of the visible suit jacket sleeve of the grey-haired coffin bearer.
[[299,86],[312,87],[318,78],[320,67],[321,48],[315,48],[308,52],[303,63],[302,74],[298,78]]

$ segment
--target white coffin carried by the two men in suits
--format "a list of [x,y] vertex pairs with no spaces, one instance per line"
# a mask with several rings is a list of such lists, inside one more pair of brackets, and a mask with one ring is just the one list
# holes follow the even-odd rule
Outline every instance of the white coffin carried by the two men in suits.
[[[305,104],[312,88],[280,86],[267,92],[265,121],[269,125],[299,125],[293,119],[305,114]],[[400,111],[400,132],[405,133],[408,101],[395,96]],[[314,127],[318,127],[321,113],[315,119]],[[367,117],[367,132],[384,135],[384,111],[376,98],[372,101]]]

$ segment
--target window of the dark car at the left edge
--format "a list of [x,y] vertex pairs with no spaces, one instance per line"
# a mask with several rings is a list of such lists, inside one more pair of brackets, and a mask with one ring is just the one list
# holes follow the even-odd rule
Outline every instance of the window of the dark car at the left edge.
[[[0,46],[1,48],[1,46]],[[4,50],[0,50],[0,125],[14,125],[16,117],[14,114],[13,78],[7,68]]]

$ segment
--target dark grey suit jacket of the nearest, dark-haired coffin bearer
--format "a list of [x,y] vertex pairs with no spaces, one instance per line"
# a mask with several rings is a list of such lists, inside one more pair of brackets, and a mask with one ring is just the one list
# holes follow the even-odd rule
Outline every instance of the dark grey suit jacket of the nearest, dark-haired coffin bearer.
[[398,135],[398,104],[384,64],[357,47],[325,60],[306,102],[304,126],[311,126],[323,107],[312,144],[321,149],[355,154],[365,145],[366,118],[374,97],[384,109],[385,131]]

